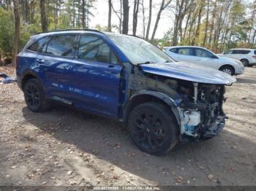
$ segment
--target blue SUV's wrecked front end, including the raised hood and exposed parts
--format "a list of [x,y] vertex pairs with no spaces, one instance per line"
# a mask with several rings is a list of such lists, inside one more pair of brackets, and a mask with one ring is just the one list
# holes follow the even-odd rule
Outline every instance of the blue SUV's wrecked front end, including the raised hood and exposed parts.
[[225,127],[227,117],[222,109],[225,85],[232,85],[236,82],[235,78],[221,71],[206,70],[187,63],[146,64],[140,67],[143,75],[135,75],[132,80],[135,85],[139,84],[139,88],[132,89],[155,90],[173,100],[170,106],[176,115],[181,141],[210,139]]

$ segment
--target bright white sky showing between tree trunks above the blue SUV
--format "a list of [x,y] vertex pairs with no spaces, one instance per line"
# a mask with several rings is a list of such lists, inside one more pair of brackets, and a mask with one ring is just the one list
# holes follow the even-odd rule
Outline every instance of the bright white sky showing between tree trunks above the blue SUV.
[[[112,0],[114,9],[118,10],[119,0]],[[145,4],[145,16],[146,16],[146,24],[148,20],[148,0],[144,0]],[[162,0],[154,0],[153,1],[153,9],[152,9],[152,20],[151,20],[151,31],[150,36],[152,34],[154,23],[157,18],[157,12],[159,10],[159,5]],[[91,17],[89,26],[91,28],[95,28],[95,26],[100,25],[102,27],[108,26],[108,0],[96,0],[94,3],[94,9],[92,13],[94,17]],[[129,4],[129,34],[132,34],[132,14],[133,14],[133,4]],[[141,8],[141,7],[140,7]],[[170,13],[169,13],[170,14]],[[138,36],[143,36],[143,17],[142,12],[139,12],[138,15]],[[112,12],[112,25],[119,24],[118,17],[114,12]],[[157,28],[156,38],[162,38],[164,33],[173,27],[173,19],[170,15],[167,15],[167,12],[162,12],[161,20],[159,21],[159,26]]]

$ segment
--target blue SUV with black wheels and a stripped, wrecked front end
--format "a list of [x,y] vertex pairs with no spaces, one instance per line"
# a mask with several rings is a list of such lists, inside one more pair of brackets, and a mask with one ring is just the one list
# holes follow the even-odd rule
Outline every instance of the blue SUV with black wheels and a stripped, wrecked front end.
[[143,152],[163,155],[178,141],[224,128],[225,85],[236,79],[175,62],[135,36],[95,30],[31,36],[17,57],[18,85],[33,112],[53,101],[124,122]]

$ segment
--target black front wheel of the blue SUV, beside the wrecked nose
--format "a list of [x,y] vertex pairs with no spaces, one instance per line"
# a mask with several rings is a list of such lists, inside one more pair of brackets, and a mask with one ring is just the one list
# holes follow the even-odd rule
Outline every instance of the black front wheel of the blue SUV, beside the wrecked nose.
[[164,155],[178,142],[178,125],[164,104],[147,102],[132,109],[129,133],[136,146],[150,155]]

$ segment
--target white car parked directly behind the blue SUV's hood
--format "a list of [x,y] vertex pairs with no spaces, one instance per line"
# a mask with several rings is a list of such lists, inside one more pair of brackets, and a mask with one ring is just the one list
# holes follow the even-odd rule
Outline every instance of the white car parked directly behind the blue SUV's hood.
[[230,75],[238,75],[244,72],[244,65],[241,61],[221,57],[203,47],[164,47],[164,51],[176,61],[196,63],[200,66],[217,69]]

